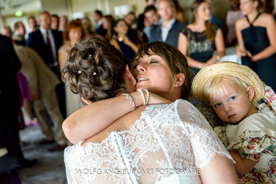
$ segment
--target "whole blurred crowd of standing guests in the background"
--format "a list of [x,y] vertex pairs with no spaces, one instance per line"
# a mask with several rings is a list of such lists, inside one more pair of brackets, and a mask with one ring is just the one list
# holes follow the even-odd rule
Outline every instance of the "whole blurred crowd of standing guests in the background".
[[[16,152],[20,154],[14,167],[36,163],[36,160],[24,159],[19,145],[18,127],[24,128],[25,124],[40,126],[44,138],[39,144],[56,142],[50,152],[63,150],[71,144],[63,133],[62,123],[83,107],[83,103],[79,95],[62,82],[61,69],[66,64],[68,49],[90,35],[108,41],[131,61],[144,43],[165,42],[186,56],[194,75],[206,66],[217,63],[225,55],[225,45],[238,44],[237,54],[242,64],[250,67],[265,84],[275,89],[276,23],[273,6],[266,0],[230,0],[230,5],[231,10],[227,12],[225,21],[225,37],[220,20],[212,15],[213,6],[219,6],[212,0],[195,0],[191,5],[191,20],[186,19],[177,0],[146,0],[144,12],[138,18],[135,13],[129,12],[123,19],[115,20],[111,15],[94,11],[94,27],[88,17],[68,21],[66,16],[51,15],[47,11],[40,13],[38,23],[36,17],[29,17],[27,29],[20,21],[14,24],[14,32],[8,26],[3,27],[1,34],[9,39],[0,37],[3,43],[1,53],[7,55],[9,62],[5,65],[10,65],[14,70],[9,73],[14,74],[10,78],[9,85],[12,86],[9,91],[14,89],[13,96],[20,96],[20,100],[11,108],[13,119],[4,118],[8,114],[7,109],[3,108],[1,112],[3,122],[12,122],[13,126],[2,126],[0,131],[11,130],[14,136],[6,142],[0,137],[4,145],[0,148],[9,149],[7,144],[15,145]],[[214,50],[217,54],[213,54]],[[7,76],[3,75],[4,78]],[[0,86],[1,104],[8,103],[5,85],[2,82]],[[26,123],[22,118],[21,106],[27,117]],[[17,114],[21,117],[19,124]],[[11,154],[13,151],[9,150]]]

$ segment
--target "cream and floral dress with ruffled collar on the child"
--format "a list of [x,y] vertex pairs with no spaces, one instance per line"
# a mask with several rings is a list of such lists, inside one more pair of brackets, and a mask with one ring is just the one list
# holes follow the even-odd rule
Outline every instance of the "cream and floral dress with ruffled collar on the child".
[[265,103],[259,109],[238,125],[214,128],[228,150],[256,162],[252,171],[238,175],[241,184],[276,184],[276,114]]

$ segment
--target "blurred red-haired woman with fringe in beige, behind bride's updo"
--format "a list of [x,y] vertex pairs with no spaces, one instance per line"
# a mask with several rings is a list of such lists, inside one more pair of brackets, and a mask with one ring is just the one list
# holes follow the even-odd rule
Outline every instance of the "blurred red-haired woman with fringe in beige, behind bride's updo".
[[[79,21],[71,21],[66,25],[63,32],[64,44],[58,50],[59,67],[62,68],[66,62],[67,50],[75,46],[80,39],[84,37],[84,30],[82,24]],[[62,72],[62,70],[61,70]],[[65,90],[65,101],[66,101],[66,115],[70,116],[73,112],[83,107],[79,95],[74,94],[66,86]]]

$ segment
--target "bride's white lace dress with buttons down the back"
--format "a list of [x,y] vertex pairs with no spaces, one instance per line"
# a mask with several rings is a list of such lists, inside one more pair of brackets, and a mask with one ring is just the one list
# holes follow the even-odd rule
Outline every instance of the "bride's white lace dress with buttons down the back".
[[185,100],[150,105],[128,130],[111,132],[101,143],[81,143],[64,151],[68,184],[197,184],[199,169],[215,155],[232,160]]

